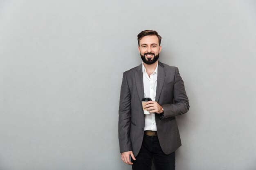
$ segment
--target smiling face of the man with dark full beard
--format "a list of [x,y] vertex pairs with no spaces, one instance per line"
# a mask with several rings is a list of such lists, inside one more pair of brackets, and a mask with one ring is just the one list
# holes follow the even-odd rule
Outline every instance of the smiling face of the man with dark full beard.
[[139,41],[138,50],[142,61],[145,64],[153,64],[159,58],[159,53],[162,47],[159,46],[158,38],[156,35],[148,35],[141,38]]

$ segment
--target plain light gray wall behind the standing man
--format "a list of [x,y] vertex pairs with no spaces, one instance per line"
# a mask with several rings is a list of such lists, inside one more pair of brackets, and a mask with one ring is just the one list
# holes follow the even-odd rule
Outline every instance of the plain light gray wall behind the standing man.
[[0,170],[129,170],[117,137],[137,34],[190,101],[177,170],[256,170],[254,0],[0,0]]

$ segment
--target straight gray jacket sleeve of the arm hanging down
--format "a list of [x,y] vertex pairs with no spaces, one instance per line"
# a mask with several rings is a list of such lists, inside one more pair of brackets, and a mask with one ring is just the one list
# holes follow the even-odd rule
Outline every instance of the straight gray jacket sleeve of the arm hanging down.
[[131,93],[125,73],[119,101],[118,139],[120,153],[132,150],[130,141]]

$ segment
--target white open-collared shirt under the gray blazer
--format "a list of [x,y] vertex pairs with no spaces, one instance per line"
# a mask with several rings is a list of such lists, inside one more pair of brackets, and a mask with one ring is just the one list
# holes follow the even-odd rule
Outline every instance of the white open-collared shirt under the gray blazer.
[[[150,97],[152,101],[155,101],[155,94],[157,91],[157,67],[155,71],[148,77],[146,68],[142,63],[142,73],[143,73],[143,85],[144,85],[144,97]],[[157,126],[155,124],[155,113],[150,113],[145,115],[145,127],[144,130],[157,131]]]

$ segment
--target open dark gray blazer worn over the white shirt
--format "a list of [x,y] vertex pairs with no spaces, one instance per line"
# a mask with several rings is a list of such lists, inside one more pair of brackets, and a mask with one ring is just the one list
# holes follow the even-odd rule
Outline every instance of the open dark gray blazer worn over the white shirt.
[[[118,122],[120,153],[132,150],[135,157],[139,153],[145,126],[145,115],[141,104],[143,97],[142,64],[140,64],[124,72],[123,75]],[[155,101],[164,108],[163,114],[155,114],[157,136],[163,152],[170,154],[181,146],[175,116],[189,110],[189,99],[177,67],[158,62]]]

